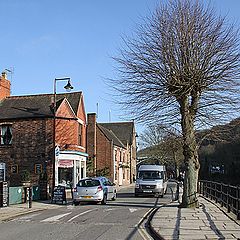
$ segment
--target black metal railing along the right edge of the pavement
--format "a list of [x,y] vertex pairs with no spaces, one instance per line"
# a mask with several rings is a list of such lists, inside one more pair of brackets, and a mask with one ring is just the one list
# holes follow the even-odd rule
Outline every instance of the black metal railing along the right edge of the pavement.
[[221,204],[240,220],[240,186],[211,181],[199,181],[199,184],[199,193]]

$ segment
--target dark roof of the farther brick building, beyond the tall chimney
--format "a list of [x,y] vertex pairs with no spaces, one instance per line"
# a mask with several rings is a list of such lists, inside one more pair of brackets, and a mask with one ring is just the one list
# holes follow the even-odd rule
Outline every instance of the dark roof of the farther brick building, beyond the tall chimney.
[[123,144],[132,144],[134,122],[99,123],[99,125],[114,132]]

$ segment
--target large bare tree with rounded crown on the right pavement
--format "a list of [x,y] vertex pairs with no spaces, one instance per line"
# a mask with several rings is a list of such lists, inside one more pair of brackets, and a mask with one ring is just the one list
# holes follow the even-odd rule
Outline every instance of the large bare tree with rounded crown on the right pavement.
[[179,123],[186,168],[183,207],[196,198],[196,126],[234,117],[239,108],[239,33],[210,6],[194,0],[159,5],[125,38],[111,85],[139,121]]

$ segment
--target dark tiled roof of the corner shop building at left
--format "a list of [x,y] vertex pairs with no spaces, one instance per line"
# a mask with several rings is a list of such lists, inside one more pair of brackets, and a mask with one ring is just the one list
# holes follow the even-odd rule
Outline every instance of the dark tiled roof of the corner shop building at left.
[[[56,95],[57,108],[67,98],[77,115],[82,92]],[[0,119],[53,117],[54,94],[10,96],[0,100]]]

